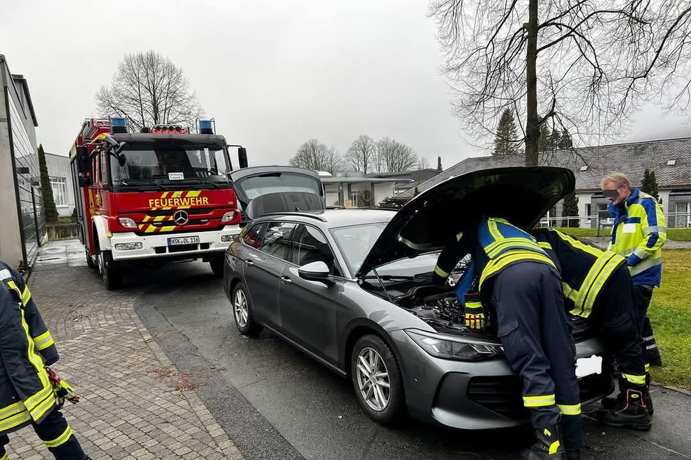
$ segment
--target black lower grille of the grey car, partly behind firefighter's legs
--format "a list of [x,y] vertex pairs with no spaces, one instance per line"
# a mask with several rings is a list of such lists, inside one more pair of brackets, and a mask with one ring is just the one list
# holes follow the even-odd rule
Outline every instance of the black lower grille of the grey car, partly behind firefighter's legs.
[[[602,362],[602,374],[579,378],[581,401],[599,399],[613,390],[611,360]],[[468,397],[490,411],[512,419],[530,417],[523,407],[523,381],[519,376],[473,377],[468,383]]]

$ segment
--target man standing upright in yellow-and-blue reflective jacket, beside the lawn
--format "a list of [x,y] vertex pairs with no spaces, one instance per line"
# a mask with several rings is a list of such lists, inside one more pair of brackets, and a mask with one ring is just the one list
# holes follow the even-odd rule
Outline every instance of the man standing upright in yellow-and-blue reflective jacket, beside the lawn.
[[662,245],[667,240],[667,222],[662,205],[651,195],[631,187],[621,173],[610,174],[600,183],[609,199],[607,210],[614,217],[609,249],[626,258],[634,284],[634,305],[643,336],[646,358],[653,366],[662,365],[655,343],[648,306],[653,287],[662,281]]

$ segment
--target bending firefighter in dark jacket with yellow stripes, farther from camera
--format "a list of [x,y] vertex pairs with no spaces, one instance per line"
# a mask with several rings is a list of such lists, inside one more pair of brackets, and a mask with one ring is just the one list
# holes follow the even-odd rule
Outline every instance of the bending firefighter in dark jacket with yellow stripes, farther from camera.
[[621,371],[619,394],[603,401],[598,419],[611,427],[650,429],[650,380],[625,259],[560,231],[531,234],[560,268],[567,309],[595,326]]

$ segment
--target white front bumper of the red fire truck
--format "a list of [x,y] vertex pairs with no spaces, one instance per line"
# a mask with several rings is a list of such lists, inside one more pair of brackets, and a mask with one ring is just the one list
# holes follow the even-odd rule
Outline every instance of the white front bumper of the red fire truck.
[[[237,237],[239,230],[237,225],[226,225],[216,231],[192,231],[173,234],[152,233],[147,236],[140,236],[134,232],[113,233],[113,236],[110,238],[110,247],[113,260],[115,261],[135,261],[166,256],[202,256],[214,252],[223,254],[231,241],[221,241],[221,237]],[[185,238],[190,236],[199,237],[199,243],[168,245],[168,238]],[[124,243],[142,243],[142,247],[141,249],[134,250],[118,250],[118,245]]]

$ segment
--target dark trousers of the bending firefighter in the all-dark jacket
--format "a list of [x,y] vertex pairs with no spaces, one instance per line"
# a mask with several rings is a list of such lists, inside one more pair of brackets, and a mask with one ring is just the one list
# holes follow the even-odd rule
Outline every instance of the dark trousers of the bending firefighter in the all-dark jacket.
[[629,269],[617,268],[602,287],[588,321],[600,333],[607,351],[614,354],[622,374],[644,376],[646,357],[633,292]]

